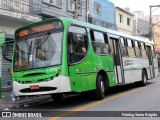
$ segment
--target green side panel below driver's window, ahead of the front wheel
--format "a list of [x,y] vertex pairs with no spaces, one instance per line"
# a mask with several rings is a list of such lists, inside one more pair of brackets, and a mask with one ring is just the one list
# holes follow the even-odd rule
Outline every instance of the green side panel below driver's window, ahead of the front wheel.
[[82,92],[95,89],[95,77],[92,67],[92,56],[88,54],[84,60],[69,66],[72,90]]

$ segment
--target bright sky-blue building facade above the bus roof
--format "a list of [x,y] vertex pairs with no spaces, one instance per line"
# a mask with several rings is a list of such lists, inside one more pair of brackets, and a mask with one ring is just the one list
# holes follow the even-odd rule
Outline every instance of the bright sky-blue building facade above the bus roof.
[[108,0],[89,0],[88,22],[116,30],[115,5]]

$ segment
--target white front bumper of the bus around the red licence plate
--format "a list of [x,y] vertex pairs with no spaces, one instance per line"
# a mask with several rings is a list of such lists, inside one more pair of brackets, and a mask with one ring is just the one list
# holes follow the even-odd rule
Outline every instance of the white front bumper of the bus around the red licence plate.
[[[38,90],[31,90],[31,86],[38,86]],[[42,89],[43,88],[43,89]],[[52,93],[71,92],[70,80],[66,76],[58,76],[53,80],[33,83],[33,84],[21,84],[13,81],[13,90],[16,96],[29,96],[29,95],[42,95]]]

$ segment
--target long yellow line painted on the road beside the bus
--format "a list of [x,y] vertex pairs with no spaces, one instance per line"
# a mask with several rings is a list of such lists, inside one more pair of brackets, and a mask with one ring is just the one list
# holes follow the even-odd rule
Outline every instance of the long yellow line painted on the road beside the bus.
[[74,114],[74,113],[76,113],[76,112],[85,110],[85,109],[87,109],[87,108],[91,108],[91,107],[96,106],[96,105],[99,105],[99,104],[101,104],[101,103],[108,102],[108,101],[113,100],[113,99],[116,99],[116,98],[120,98],[120,97],[122,97],[122,96],[128,95],[128,94],[130,94],[130,93],[133,93],[133,92],[136,92],[136,91],[139,91],[139,90],[142,90],[142,89],[145,89],[145,88],[147,88],[147,87],[155,86],[155,85],[157,85],[157,84],[160,84],[160,82],[154,83],[154,84],[151,84],[151,85],[147,85],[147,86],[145,86],[145,87],[136,88],[136,89],[134,89],[134,90],[126,91],[126,92],[120,93],[120,94],[118,94],[118,95],[112,96],[112,97],[110,97],[110,98],[106,98],[106,99],[104,99],[104,100],[97,101],[97,102],[91,103],[91,104],[89,104],[89,105],[86,105],[86,106],[77,108],[77,109],[75,109],[75,110],[73,110],[73,111],[70,111],[70,112],[67,112],[67,111],[66,111],[65,113],[62,113],[62,114],[60,114],[60,115],[58,115],[58,116],[56,116],[56,117],[51,118],[50,120],[57,120],[57,119],[59,119],[59,118],[68,116],[68,115],[70,115],[70,114]]

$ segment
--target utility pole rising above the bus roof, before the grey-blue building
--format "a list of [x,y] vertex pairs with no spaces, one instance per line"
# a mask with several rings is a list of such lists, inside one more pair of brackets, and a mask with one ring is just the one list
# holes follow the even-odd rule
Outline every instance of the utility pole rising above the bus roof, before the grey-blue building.
[[74,12],[73,12],[73,18],[74,19],[77,19],[78,20],[78,16],[79,16],[79,8],[80,8],[80,0],[73,0],[73,2],[75,3],[75,9],[74,9]]

